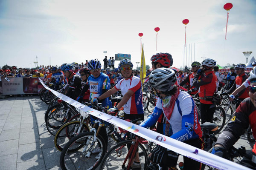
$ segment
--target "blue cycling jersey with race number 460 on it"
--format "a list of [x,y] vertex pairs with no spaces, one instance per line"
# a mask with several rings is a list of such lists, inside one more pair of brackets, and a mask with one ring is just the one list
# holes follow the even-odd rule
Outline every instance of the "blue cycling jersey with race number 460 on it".
[[[103,94],[103,89],[109,90],[110,89],[110,79],[108,75],[104,73],[100,73],[99,77],[94,78],[93,75],[87,80],[87,85],[90,87],[90,100],[93,98],[97,98]],[[109,98],[105,98],[102,100],[102,106],[111,108],[112,104]]]

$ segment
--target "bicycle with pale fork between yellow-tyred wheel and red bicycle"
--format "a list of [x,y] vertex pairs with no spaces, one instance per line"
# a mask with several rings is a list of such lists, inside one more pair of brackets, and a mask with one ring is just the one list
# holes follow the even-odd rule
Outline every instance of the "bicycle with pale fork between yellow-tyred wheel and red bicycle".
[[[107,112],[107,109],[104,107],[100,107],[98,110]],[[98,123],[99,126],[96,128]],[[96,119],[93,124],[93,128],[90,129],[90,132],[79,133],[79,135],[74,136],[69,142],[67,142],[63,148],[60,158],[60,164],[63,170],[70,170],[74,167],[93,170],[99,166],[99,163],[101,163],[107,150],[105,141],[99,134],[99,130],[102,126],[107,126],[109,128],[109,130],[106,128],[106,130],[108,130],[107,133],[109,135],[111,133],[115,134],[119,141],[123,141],[127,137],[127,134],[120,136],[112,124]],[[93,149],[96,148],[99,148],[100,151],[98,156],[95,156],[92,153]]]

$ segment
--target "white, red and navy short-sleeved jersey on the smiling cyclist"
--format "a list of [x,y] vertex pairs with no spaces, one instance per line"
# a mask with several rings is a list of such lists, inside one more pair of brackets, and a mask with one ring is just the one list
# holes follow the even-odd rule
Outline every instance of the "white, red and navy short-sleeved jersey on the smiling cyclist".
[[142,104],[142,84],[140,78],[132,76],[127,80],[122,79],[116,84],[115,88],[117,90],[121,90],[123,96],[128,92],[128,90],[132,90],[134,92],[127,103],[123,105],[124,112],[126,114],[144,114]]

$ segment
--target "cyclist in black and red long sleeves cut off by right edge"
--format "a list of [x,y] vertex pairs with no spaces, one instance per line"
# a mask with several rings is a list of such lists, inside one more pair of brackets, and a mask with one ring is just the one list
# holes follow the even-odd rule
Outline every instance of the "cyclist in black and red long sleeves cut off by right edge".
[[[256,68],[250,72],[249,81],[249,98],[245,98],[239,104],[230,123],[219,135],[212,150],[215,155],[227,158],[227,150],[244,134],[244,130],[248,128],[249,124],[252,128],[253,136],[256,138]],[[254,144],[253,150],[249,154],[250,156],[256,156],[256,144]],[[251,169],[256,168],[255,161],[253,162],[249,158],[243,158],[241,164]]]

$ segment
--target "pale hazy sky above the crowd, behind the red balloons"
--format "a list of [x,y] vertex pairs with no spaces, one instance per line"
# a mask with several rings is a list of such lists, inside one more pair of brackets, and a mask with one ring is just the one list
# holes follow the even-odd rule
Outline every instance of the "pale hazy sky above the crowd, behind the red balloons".
[[[225,3],[233,4],[227,40]],[[256,57],[255,21],[256,0],[0,0],[0,66],[34,67],[36,56],[38,66],[94,58],[103,63],[103,51],[108,58],[131,54],[137,66],[140,32],[150,66],[158,52],[170,53],[177,68],[190,65],[191,55],[192,61],[212,58],[221,66],[246,63],[242,52],[253,52],[248,61]]]

